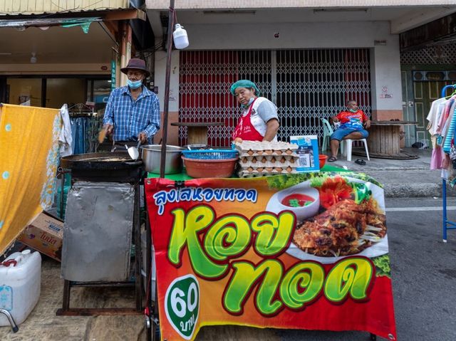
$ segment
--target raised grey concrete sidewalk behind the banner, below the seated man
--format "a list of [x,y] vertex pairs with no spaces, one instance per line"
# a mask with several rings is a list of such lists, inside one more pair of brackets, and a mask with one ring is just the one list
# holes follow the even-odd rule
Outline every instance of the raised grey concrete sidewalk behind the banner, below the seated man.
[[[440,170],[430,170],[432,149],[404,148],[403,152],[418,155],[419,158],[406,160],[371,158],[368,161],[366,157],[353,154],[352,161],[348,162],[339,154],[338,160],[332,164],[370,175],[383,184],[385,196],[388,198],[442,196]],[[365,160],[366,165],[356,164],[356,159]],[[455,191],[449,189],[447,195],[455,196]]]

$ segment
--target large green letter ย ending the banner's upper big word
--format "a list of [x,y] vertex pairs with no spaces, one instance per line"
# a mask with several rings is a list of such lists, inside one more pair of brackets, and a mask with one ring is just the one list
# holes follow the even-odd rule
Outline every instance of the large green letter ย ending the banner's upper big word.
[[270,213],[259,214],[252,220],[252,230],[257,232],[255,250],[261,256],[281,253],[289,244],[294,227],[294,214],[284,212],[276,216]]

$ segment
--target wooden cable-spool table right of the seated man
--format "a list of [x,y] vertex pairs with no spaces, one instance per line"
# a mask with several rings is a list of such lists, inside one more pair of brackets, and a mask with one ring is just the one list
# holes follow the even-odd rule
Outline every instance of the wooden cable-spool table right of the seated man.
[[368,148],[371,157],[380,159],[418,159],[417,155],[400,152],[400,126],[416,125],[408,121],[371,121]]

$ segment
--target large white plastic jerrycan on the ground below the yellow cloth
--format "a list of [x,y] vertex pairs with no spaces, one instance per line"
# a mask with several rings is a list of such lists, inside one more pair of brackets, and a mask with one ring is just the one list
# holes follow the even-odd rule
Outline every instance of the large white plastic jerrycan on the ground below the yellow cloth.
[[[8,310],[17,325],[35,308],[41,291],[41,256],[30,250],[12,253],[0,264],[0,308]],[[10,325],[0,314],[0,326]]]

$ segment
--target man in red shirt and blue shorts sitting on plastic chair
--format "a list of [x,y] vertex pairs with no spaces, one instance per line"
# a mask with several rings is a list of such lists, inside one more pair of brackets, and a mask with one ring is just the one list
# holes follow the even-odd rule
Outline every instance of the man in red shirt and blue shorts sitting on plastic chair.
[[358,109],[356,100],[347,102],[347,111],[341,111],[336,116],[332,117],[333,122],[341,122],[341,125],[331,135],[331,157],[328,162],[337,160],[337,151],[341,140],[351,139],[360,140],[368,137],[369,133],[364,129],[371,127],[371,120],[363,110]]

